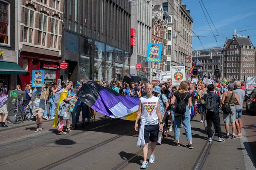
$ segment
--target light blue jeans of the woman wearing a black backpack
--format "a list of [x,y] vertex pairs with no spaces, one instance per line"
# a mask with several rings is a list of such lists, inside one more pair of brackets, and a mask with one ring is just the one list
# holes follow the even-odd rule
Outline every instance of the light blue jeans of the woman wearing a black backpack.
[[[192,141],[189,107],[186,107],[185,118],[182,120],[182,123],[186,132],[187,141]],[[175,140],[180,139],[180,124],[180,119],[174,118]]]

